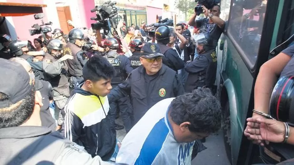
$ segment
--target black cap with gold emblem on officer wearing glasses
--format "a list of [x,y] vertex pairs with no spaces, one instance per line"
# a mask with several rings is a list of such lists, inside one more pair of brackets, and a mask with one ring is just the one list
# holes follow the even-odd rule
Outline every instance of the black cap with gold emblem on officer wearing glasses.
[[157,43],[146,43],[141,51],[143,51],[142,57],[144,58],[156,58],[156,57],[162,57],[164,56],[161,51],[160,47],[157,45]]

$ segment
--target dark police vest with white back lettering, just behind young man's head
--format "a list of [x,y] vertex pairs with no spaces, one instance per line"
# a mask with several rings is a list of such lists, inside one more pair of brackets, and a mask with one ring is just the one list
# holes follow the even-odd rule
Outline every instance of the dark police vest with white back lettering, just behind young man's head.
[[114,67],[116,75],[111,80],[111,85],[118,85],[120,83],[123,83],[127,75],[122,69],[122,61],[119,59],[119,55],[115,51],[109,51],[105,56],[107,58],[108,62]]

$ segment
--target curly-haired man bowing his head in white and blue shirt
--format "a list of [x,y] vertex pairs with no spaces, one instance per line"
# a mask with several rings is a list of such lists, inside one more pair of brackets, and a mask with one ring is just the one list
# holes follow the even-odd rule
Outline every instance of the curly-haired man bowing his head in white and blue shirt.
[[196,153],[205,149],[195,140],[218,132],[221,113],[218,99],[208,88],[164,99],[125,136],[116,162],[190,165],[193,145]]

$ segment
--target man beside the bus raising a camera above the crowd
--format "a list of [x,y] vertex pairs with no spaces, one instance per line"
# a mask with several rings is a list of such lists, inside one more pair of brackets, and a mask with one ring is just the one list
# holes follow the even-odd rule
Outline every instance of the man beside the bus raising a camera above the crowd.
[[220,6],[215,4],[212,9],[208,10],[205,6],[202,5],[202,9],[204,10],[204,15],[209,18],[195,21],[197,14],[194,13],[188,21],[188,24],[190,26],[199,28],[199,33],[210,34],[214,40],[214,48],[216,48],[218,45],[218,39],[223,33],[225,26],[225,22],[219,17]]

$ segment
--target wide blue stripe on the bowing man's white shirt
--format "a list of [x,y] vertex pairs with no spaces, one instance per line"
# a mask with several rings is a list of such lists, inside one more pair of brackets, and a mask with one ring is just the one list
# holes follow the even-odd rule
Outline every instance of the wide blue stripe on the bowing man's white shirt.
[[[159,133],[160,132],[160,133]],[[156,156],[159,154],[163,143],[169,133],[169,129],[165,125],[165,120],[162,118],[155,124],[151,132],[147,136],[139,157],[136,159],[135,165],[139,164],[152,164]]]

